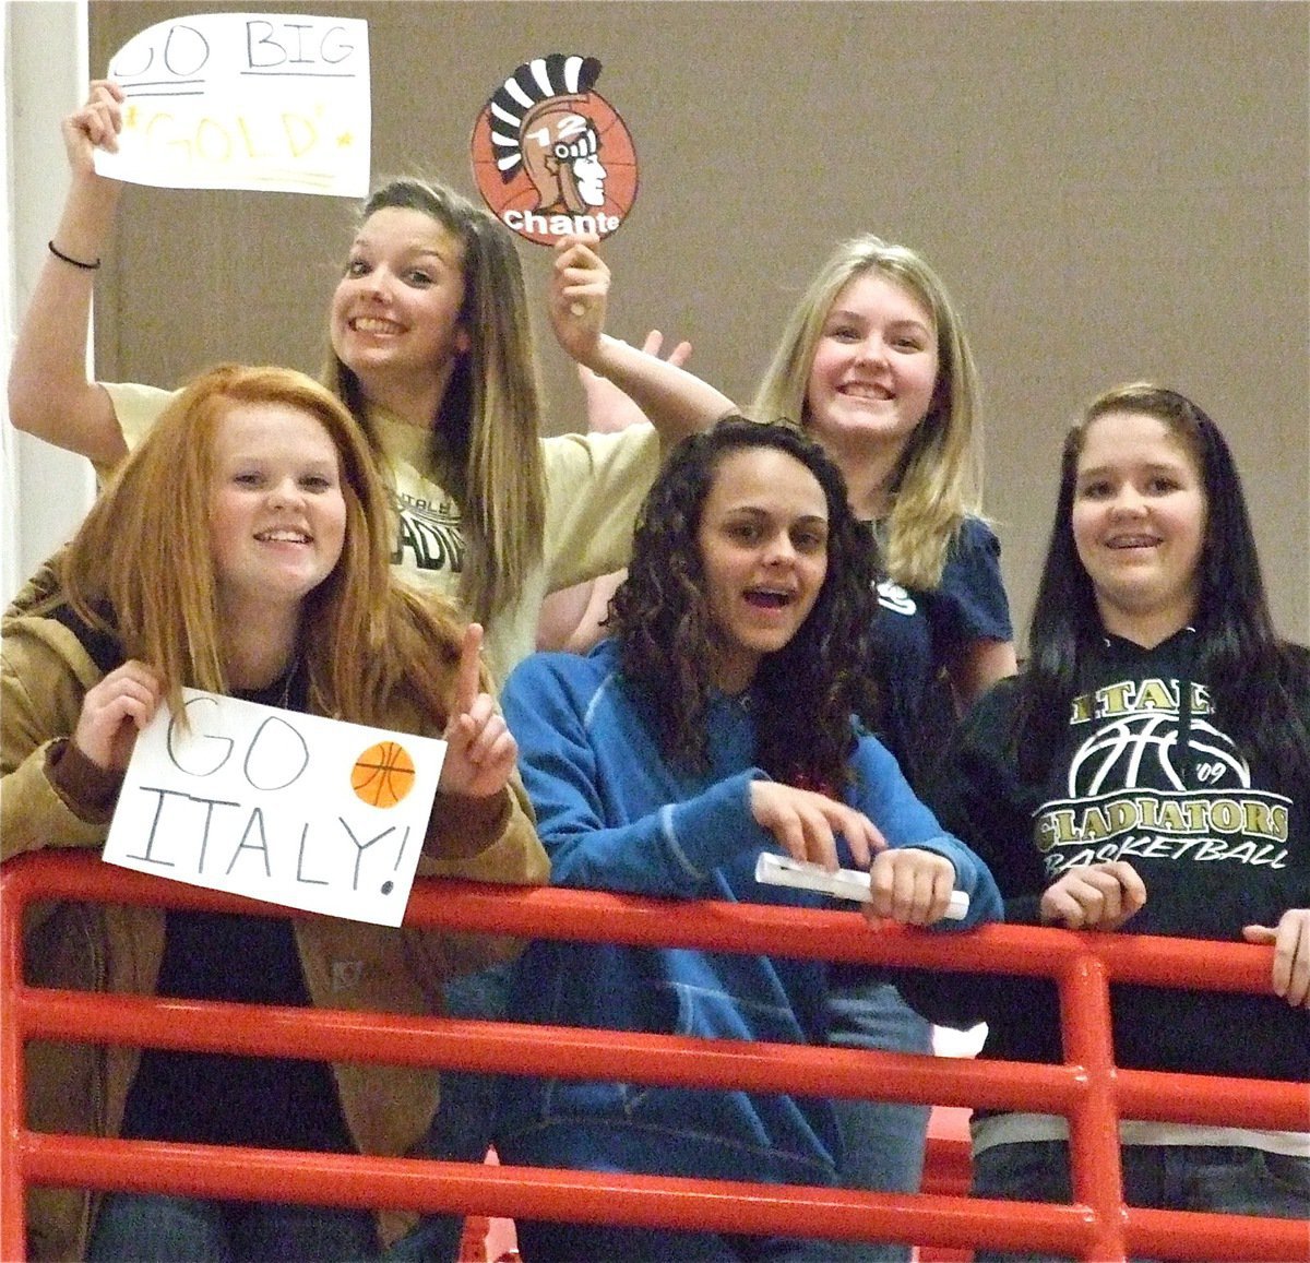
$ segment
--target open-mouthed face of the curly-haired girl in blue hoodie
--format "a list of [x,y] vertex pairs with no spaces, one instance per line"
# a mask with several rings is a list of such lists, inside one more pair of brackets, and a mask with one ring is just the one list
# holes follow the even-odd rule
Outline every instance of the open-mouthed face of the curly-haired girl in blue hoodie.
[[717,641],[714,683],[749,687],[814,609],[828,573],[828,502],[819,480],[777,448],[724,456],[697,529]]

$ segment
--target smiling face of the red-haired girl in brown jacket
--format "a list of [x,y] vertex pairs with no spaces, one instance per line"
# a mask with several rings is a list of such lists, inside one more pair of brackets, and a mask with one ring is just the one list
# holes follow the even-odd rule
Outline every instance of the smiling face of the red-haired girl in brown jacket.
[[322,423],[287,404],[238,404],[214,436],[210,542],[219,600],[242,612],[296,605],[337,566],[346,500]]

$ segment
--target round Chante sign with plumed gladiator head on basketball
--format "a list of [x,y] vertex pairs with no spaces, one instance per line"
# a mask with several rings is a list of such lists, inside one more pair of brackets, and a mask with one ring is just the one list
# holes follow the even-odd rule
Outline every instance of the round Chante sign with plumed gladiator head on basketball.
[[637,199],[633,138],[592,90],[599,76],[596,58],[533,58],[478,114],[473,177],[496,219],[528,241],[608,237]]

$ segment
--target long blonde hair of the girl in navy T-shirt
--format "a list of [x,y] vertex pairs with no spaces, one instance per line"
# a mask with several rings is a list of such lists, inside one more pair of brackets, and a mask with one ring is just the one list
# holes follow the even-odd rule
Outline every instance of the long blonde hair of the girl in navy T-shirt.
[[913,295],[937,330],[933,401],[892,478],[883,541],[887,574],[905,587],[931,590],[942,582],[964,519],[981,514],[982,460],[973,355],[946,287],[924,259],[869,233],[838,245],[787,317],[752,411],[761,421],[789,418],[810,428],[810,371],[828,313],[841,291],[870,271]]

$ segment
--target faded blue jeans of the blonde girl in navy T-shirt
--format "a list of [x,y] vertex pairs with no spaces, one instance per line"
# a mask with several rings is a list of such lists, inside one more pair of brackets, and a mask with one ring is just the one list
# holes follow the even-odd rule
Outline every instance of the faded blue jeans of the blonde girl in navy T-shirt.
[[[933,1027],[889,983],[834,988],[828,997],[828,1043],[884,1052],[933,1051]],[[870,1192],[918,1192],[924,1177],[929,1106],[889,1101],[833,1101],[841,1127],[841,1183]],[[842,1241],[834,1263],[903,1263],[910,1247]]]

